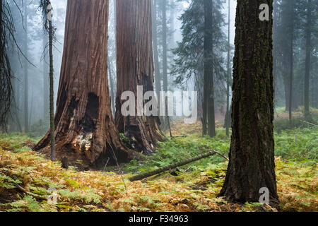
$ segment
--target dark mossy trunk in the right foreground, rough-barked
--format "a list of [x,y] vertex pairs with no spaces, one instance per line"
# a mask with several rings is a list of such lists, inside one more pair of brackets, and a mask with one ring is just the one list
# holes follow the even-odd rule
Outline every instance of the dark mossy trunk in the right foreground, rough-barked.
[[259,20],[259,6],[272,0],[237,1],[232,141],[230,162],[220,196],[228,201],[258,202],[263,187],[278,200],[273,139],[272,16]]

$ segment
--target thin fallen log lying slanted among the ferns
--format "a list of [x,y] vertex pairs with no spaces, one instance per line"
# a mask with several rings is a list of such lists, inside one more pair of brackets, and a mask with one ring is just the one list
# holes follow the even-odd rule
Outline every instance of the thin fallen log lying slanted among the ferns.
[[201,159],[204,159],[206,157],[210,157],[210,156],[216,155],[216,154],[218,154],[218,155],[224,157],[226,160],[228,160],[228,158],[225,157],[225,155],[222,155],[222,154],[218,153],[215,150],[209,150],[209,151],[210,151],[209,153],[206,153],[206,154],[203,154],[203,155],[199,155],[197,157],[192,157],[189,160],[184,160],[182,162],[177,162],[177,163],[172,164],[172,165],[167,165],[165,167],[161,167],[159,169],[155,169],[155,170],[150,171],[150,172],[145,172],[143,174],[138,174],[138,175],[136,175],[134,177],[130,177],[129,181],[136,182],[136,181],[139,181],[141,179],[145,179],[147,177],[151,177],[151,176],[154,176],[156,174],[160,174],[160,173],[165,172],[165,171],[170,170],[170,169],[175,169],[177,167],[182,167],[183,165],[187,165],[187,164],[189,164],[191,162],[196,162],[198,160],[201,160]]

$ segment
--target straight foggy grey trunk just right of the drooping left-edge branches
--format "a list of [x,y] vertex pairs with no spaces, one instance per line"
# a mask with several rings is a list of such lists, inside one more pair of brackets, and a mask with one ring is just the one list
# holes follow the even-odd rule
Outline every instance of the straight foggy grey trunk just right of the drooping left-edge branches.
[[29,117],[28,117],[28,2],[23,3],[23,21],[24,21],[24,52],[25,59],[23,60],[24,70],[24,131],[29,131]]

